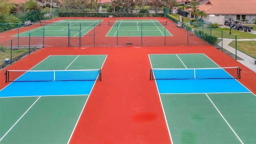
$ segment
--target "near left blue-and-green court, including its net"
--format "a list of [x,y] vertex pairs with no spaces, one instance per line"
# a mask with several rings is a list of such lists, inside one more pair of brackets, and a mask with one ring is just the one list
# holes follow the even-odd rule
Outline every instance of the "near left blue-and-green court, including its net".
[[106,55],[48,56],[0,91],[0,143],[68,143]]

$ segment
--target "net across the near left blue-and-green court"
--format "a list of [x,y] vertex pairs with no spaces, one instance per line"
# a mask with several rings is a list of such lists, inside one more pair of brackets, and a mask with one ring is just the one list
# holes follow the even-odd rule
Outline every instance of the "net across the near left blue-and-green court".
[[100,80],[101,69],[89,70],[6,70],[6,82]]

